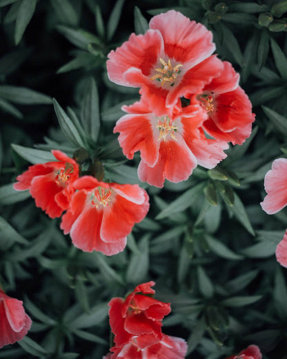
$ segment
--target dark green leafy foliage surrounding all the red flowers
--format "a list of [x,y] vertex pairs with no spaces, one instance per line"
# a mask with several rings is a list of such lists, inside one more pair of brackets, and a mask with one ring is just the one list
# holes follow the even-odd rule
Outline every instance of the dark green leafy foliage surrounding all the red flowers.
[[[12,183],[50,149],[79,147],[112,182],[139,183],[139,156],[126,161],[112,134],[138,90],[108,81],[106,56],[169,9],[213,32],[253,102],[253,134],[186,182],[140,183],[150,212],[125,251],[84,253]],[[0,0],[0,19],[0,282],[33,320],[0,358],[102,358],[108,301],[149,280],[171,303],[164,333],[188,341],[187,358],[224,358],[251,343],[265,359],[286,358],[287,278],[275,248],[287,210],[268,216],[259,202],[272,161],[287,154],[287,1]]]

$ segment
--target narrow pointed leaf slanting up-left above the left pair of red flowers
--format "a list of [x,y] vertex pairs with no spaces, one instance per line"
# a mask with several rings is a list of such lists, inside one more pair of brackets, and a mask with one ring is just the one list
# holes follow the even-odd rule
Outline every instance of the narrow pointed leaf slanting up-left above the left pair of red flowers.
[[81,136],[79,135],[75,125],[72,123],[70,117],[66,115],[65,111],[61,108],[56,99],[53,99],[53,104],[61,129],[68,140],[76,147],[85,148]]

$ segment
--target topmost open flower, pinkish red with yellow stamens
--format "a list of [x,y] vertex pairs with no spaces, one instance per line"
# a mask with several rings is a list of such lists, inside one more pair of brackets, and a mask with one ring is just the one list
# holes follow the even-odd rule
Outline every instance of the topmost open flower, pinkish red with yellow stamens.
[[[210,56],[214,50],[212,32],[170,10],[152,17],[145,35],[132,34],[110,52],[108,77],[119,85],[147,87],[172,107],[179,97],[197,93],[219,75],[222,64]],[[157,107],[157,101],[152,106]]]

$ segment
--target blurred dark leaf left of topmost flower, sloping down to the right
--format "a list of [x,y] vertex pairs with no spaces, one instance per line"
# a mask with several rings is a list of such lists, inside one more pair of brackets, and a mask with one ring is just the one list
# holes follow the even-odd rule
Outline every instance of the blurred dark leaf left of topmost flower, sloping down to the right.
[[87,50],[90,43],[97,43],[98,45],[101,43],[95,35],[83,29],[73,29],[68,26],[58,25],[57,30],[61,32],[68,41],[82,50]]

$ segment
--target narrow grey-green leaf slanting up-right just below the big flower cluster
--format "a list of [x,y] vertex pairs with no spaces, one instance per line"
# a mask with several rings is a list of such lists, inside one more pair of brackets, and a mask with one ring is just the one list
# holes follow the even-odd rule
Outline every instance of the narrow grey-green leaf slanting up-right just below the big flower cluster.
[[157,217],[156,220],[162,220],[165,217],[168,217],[174,213],[184,211],[186,208],[192,206],[199,197],[201,197],[202,192],[204,190],[205,183],[201,182],[196,186],[190,188],[188,191],[184,192],[182,195],[177,197],[176,200],[172,201],[164,210],[162,210]]

